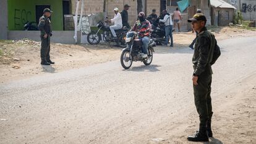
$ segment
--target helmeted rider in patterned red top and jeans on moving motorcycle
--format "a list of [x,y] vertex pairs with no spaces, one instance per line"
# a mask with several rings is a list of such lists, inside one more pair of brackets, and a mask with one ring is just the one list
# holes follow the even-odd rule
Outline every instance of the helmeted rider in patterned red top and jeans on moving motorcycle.
[[150,29],[151,24],[145,18],[145,13],[140,12],[138,15],[139,20],[134,23],[132,27],[132,31],[139,32],[139,38],[142,40],[143,43],[143,54],[142,57],[148,57],[148,43],[150,41]]

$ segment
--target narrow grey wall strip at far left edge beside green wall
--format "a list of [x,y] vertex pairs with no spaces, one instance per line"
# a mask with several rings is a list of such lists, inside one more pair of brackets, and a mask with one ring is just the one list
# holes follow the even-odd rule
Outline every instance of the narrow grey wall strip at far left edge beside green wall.
[[8,27],[8,12],[7,12],[7,0],[0,0],[0,40],[7,39],[7,27]]

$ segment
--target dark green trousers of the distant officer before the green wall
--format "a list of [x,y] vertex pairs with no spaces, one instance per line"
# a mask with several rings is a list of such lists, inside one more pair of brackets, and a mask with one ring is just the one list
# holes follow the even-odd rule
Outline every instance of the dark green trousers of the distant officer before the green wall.
[[47,36],[47,38],[41,37],[41,60],[42,61],[49,61],[49,51],[50,51],[50,36]]

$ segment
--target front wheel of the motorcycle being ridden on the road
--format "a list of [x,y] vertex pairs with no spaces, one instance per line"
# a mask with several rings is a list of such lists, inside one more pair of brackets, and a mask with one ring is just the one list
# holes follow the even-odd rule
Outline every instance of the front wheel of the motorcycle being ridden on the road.
[[124,69],[129,69],[132,66],[132,56],[130,56],[130,50],[124,49],[121,54],[121,65]]

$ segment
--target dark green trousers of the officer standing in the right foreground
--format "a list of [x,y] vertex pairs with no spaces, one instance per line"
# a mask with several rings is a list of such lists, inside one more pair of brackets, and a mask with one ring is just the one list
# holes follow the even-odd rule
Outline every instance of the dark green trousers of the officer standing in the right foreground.
[[206,129],[207,121],[211,121],[213,115],[211,108],[211,68],[198,76],[194,85],[195,107],[200,118],[200,129]]

